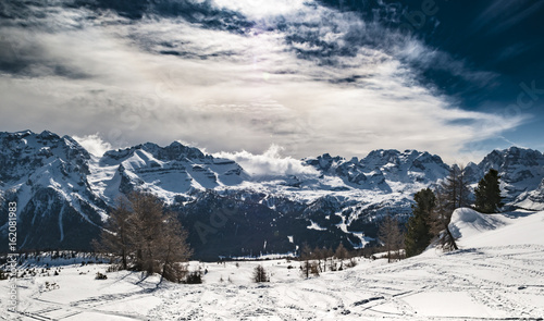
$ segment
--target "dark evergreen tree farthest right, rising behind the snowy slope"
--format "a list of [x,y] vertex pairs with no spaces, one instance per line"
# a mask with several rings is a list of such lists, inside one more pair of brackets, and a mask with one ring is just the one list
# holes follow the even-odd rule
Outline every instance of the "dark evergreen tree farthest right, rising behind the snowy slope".
[[475,208],[482,213],[494,213],[503,207],[498,172],[491,169],[474,189]]

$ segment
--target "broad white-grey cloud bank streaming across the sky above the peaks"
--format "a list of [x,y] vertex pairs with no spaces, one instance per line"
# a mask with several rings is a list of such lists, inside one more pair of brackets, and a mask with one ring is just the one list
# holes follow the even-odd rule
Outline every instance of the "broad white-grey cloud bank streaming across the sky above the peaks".
[[138,20],[58,3],[22,18],[34,27],[0,32],[11,50],[0,50],[11,66],[0,75],[3,128],[87,137],[98,153],[97,132],[113,147],[183,139],[246,150],[232,155],[249,162],[277,159],[274,145],[294,158],[416,148],[447,159],[523,121],[462,110],[421,85],[415,65],[434,61],[474,83],[493,75],[311,1],[205,1],[190,18],[156,10]]

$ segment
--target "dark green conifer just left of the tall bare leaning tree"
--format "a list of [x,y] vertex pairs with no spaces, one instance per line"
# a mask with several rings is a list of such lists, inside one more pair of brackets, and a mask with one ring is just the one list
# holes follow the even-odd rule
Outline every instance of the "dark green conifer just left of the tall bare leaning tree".
[[436,205],[434,193],[430,188],[421,189],[413,196],[412,217],[408,220],[405,237],[406,256],[421,254],[431,244],[431,214]]

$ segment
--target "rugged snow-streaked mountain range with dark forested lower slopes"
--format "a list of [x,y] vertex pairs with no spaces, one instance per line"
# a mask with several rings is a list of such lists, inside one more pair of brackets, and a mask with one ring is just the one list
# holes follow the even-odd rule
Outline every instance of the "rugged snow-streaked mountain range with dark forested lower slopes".
[[[146,190],[180,214],[197,257],[217,259],[294,251],[304,242],[364,246],[383,214],[406,219],[413,194],[449,171],[438,156],[417,150],[374,150],[360,160],[325,153],[301,164],[311,170],[251,177],[230,159],[180,143],[97,158],[67,136],[0,133],[1,208],[8,212],[8,201],[17,202],[20,248],[89,249],[115,199]],[[467,176],[475,185],[491,168],[499,171],[510,206],[544,209],[541,152],[495,150],[469,163]],[[5,215],[0,226],[5,239]]]

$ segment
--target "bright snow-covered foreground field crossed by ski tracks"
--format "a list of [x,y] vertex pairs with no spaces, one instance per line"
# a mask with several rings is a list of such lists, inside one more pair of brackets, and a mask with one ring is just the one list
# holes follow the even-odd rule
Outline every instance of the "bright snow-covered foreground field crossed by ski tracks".
[[[542,320],[544,212],[454,213],[460,250],[429,249],[387,264],[300,277],[296,261],[191,262],[208,270],[200,285],[159,284],[158,276],[112,272],[104,264],[64,266],[58,276],[18,280],[18,313],[3,320]],[[255,284],[262,263],[271,282]],[[287,269],[288,266],[295,269]],[[55,283],[55,286],[46,286]]]

